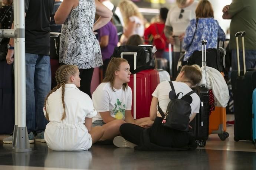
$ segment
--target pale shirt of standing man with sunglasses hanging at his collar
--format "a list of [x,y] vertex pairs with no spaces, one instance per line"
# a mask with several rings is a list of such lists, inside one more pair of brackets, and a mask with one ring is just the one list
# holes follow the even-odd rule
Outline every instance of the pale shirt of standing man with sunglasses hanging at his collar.
[[[181,8],[179,8],[177,4],[170,8],[167,14],[165,25],[173,27],[173,35],[178,36],[181,33],[185,33],[190,20],[196,18],[195,11],[197,4],[198,1],[195,0],[190,6],[183,8],[183,13],[180,13]],[[183,17],[179,19],[180,14]],[[180,52],[180,40],[178,37],[175,38],[174,52]]]

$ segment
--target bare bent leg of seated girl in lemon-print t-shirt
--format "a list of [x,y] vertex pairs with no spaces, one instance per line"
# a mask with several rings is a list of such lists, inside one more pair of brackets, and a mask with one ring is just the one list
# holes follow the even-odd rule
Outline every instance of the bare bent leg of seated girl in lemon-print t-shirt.
[[102,125],[102,128],[104,129],[104,135],[100,140],[112,140],[114,137],[118,136],[120,134],[119,128],[123,123],[125,123],[124,120],[116,119]]

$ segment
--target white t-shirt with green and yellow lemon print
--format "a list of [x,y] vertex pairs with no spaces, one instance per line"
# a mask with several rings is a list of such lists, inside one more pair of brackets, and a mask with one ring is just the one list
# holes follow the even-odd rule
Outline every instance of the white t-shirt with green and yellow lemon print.
[[102,120],[99,112],[110,112],[110,115],[116,119],[125,118],[125,110],[132,108],[132,90],[128,86],[125,91],[121,89],[113,89],[110,82],[101,83],[96,90],[92,93],[92,101],[95,110],[98,114],[93,117],[92,122],[95,120]]

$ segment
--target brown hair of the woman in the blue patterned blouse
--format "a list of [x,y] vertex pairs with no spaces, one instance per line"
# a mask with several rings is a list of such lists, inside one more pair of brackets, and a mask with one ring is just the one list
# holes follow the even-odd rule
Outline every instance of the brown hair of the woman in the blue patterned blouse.
[[213,16],[213,7],[208,0],[201,0],[196,7],[196,18],[210,18]]

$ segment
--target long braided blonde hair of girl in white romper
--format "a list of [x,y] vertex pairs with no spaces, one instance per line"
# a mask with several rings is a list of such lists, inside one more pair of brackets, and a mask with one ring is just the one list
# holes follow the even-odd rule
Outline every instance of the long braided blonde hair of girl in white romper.
[[47,98],[50,96],[50,94],[52,94],[52,92],[55,92],[60,87],[62,87],[62,89],[61,89],[61,92],[62,92],[61,93],[61,99],[62,99],[62,105],[63,105],[63,109],[64,109],[61,120],[66,118],[66,111],[65,111],[66,105],[65,105],[65,102],[64,102],[65,84],[68,82],[70,76],[72,76],[72,75],[74,76],[77,72],[78,72],[78,67],[75,66],[75,65],[62,65],[61,67],[59,67],[57,69],[56,75],[55,75],[57,85],[55,86],[55,88],[53,88],[48,93],[48,95],[45,98],[44,107],[45,107],[45,112],[46,112],[45,117],[46,117],[47,120],[49,120],[49,115],[48,115],[47,109],[46,109]]

